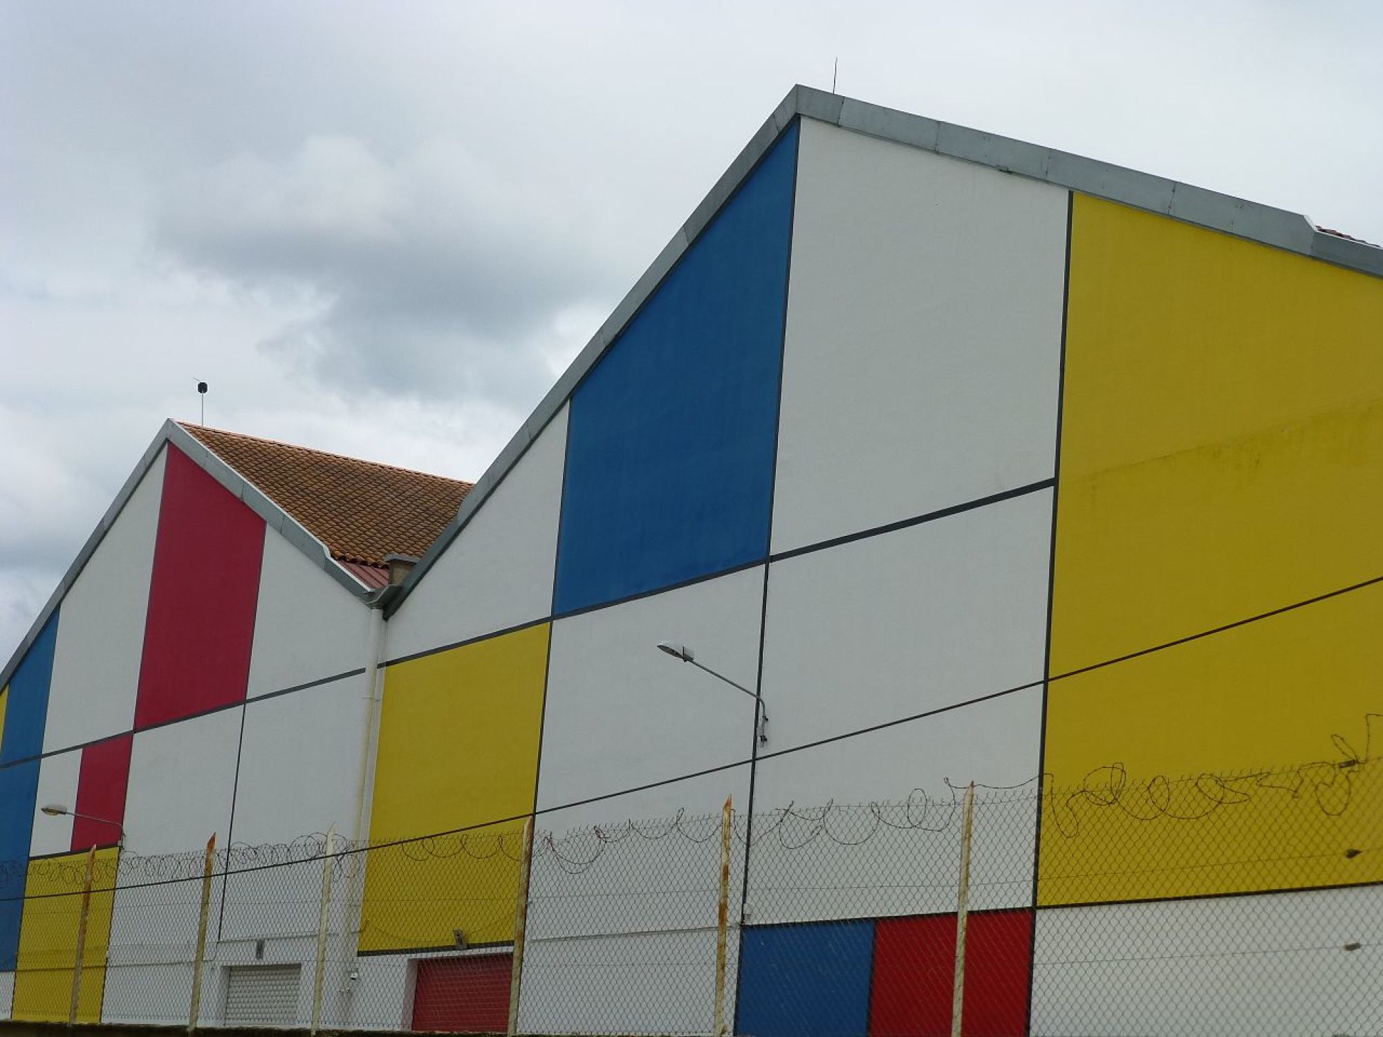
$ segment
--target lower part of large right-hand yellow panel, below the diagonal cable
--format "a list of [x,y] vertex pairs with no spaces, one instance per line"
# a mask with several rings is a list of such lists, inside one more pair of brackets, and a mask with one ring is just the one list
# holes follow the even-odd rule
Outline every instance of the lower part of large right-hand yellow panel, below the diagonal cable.
[[1054,683],[1039,903],[1383,881],[1380,621],[1372,586]]

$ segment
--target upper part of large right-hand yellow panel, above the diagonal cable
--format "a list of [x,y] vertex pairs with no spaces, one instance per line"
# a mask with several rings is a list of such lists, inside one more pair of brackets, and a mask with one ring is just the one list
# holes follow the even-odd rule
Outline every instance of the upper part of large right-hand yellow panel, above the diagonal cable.
[[1052,671],[1383,574],[1383,279],[1077,196]]

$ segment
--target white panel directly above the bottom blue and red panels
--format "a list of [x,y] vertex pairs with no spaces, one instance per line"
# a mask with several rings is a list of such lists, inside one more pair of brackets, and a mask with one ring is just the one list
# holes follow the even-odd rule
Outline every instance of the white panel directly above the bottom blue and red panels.
[[[1040,686],[971,700],[1041,679],[1050,521],[1043,491],[770,567],[751,921],[954,908],[947,780],[1022,785],[1040,766]],[[974,904],[1028,904],[1033,790],[982,795],[1003,802],[976,820]]]

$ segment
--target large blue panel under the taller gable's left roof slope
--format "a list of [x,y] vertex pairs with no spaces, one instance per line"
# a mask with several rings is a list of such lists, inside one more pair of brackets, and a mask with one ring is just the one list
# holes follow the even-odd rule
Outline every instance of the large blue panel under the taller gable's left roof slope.
[[797,124],[571,398],[553,608],[768,553]]

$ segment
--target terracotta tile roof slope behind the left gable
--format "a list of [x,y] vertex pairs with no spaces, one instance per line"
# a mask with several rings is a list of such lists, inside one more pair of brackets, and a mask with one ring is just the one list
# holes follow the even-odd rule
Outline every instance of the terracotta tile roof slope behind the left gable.
[[422,556],[472,487],[393,465],[180,424],[369,585],[376,581],[360,567],[382,571],[386,554]]

